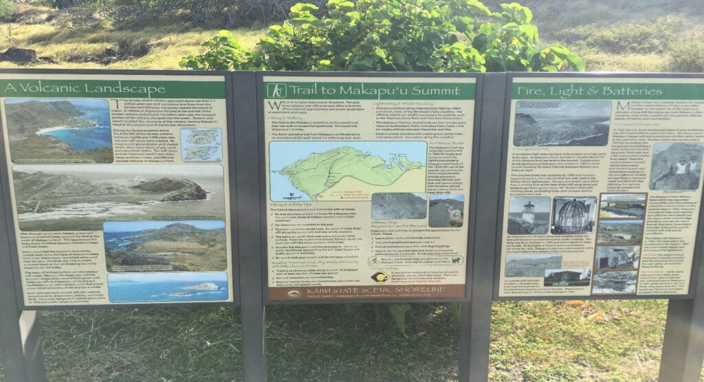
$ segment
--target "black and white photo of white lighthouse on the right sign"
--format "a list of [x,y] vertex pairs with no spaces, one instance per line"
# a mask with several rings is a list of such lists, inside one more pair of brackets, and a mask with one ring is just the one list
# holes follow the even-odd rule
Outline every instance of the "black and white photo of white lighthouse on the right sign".
[[550,198],[516,196],[508,201],[508,234],[541,235],[550,226]]

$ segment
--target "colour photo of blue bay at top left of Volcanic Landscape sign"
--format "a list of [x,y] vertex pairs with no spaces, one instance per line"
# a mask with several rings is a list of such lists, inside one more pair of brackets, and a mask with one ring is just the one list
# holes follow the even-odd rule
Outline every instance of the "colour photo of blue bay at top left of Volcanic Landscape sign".
[[13,163],[112,163],[110,104],[101,98],[8,98]]

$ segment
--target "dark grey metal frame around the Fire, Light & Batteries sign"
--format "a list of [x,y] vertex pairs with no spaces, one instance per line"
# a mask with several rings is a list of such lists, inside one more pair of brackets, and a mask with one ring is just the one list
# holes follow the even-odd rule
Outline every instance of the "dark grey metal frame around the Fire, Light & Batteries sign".
[[[503,113],[503,139],[501,146],[501,177],[498,190],[498,219],[496,225],[496,255],[494,258],[494,300],[510,301],[510,300],[643,300],[643,299],[691,299],[697,285],[699,263],[702,250],[702,241],[704,240],[704,227],[701,224],[704,221],[704,205],[700,204],[698,213],[698,222],[696,225],[696,239],[694,243],[694,252],[692,257],[691,276],[689,279],[689,293],[683,295],[624,295],[624,294],[600,294],[600,295],[539,295],[539,296],[499,296],[501,284],[501,261],[503,253],[503,217],[505,208],[505,186],[506,186],[506,168],[508,164],[508,139],[511,120],[511,104],[512,90],[514,79],[517,78],[545,78],[545,79],[565,79],[564,82],[570,82],[571,78],[593,79],[594,82],[608,82],[609,79],[704,79],[704,75],[697,74],[677,74],[677,73],[525,73],[525,72],[509,72],[506,74],[506,89],[505,102]],[[700,203],[704,201],[703,197]],[[593,272],[593,271],[592,271]],[[591,290],[591,286],[590,286]]]

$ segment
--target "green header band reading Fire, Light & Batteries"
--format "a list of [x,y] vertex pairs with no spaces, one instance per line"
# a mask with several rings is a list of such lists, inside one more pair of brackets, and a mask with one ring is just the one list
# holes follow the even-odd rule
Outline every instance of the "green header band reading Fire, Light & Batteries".
[[515,82],[513,99],[704,99],[704,84]]

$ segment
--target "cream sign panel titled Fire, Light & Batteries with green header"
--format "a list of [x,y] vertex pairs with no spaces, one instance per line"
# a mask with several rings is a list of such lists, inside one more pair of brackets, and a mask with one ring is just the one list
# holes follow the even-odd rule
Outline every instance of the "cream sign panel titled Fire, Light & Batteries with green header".
[[500,297],[689,293],[704,79],[514,77]]

